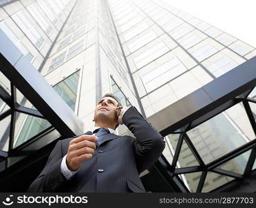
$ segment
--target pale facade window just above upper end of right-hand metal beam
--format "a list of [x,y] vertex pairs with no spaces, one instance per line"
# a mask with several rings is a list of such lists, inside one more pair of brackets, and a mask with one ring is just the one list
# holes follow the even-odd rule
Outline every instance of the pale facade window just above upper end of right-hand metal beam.
[[210,66],[207,67],[207,69],[215,77],[219,77],[222,74],[230,71],[231,69],[234,69],[237,66],[238,66],[238,64],[236,62],[234,62],[233,60],[231,60],[230,58],[228,58],[225,55],[222,58],[220,58],[219,60],[217,60],[217,61],[213,62],[212,64],[210,64]]

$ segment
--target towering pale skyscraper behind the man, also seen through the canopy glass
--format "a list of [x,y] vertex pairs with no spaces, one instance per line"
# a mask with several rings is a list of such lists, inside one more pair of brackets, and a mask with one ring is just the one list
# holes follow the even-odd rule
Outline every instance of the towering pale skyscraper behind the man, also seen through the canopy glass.
[[[255,57],[256,49],[164,0],[0,1],[0,29],[84,123],[93,128],[95,103],[113,93],[149,118]],[[29,73],[29,71],[28,71]],[[235,82],[235,80],[230,80]],[[0,85],[11,86],[0,72]],[[227,83],[228,85],[228,83]],[[255,90],[250,93],[255,98]],[[35,109],[17,90],[17,103]],[[250,106],[255,110],[255,103]],[[10,107],[0,98],[0,114]],[[172,116],[172,115],[170,115]],[[8,151],[10,116],[0,121],[0,150]],[[13,148],[51,126],[16,114]],[[118,134],[131,134],[124,125]],[[187,132],[205,164],[255,139],[242,103]],[[170,164],[179,134],[165,137]],[[219,168],[243,173],[250,151]],[[177,168],[199,163],[183,140]],[[256,164],[254,165],[256,168]],[[146,173],[145,173],[146,174]],[[196,191],[201,172],[180,174]],[[208,173],[203,192],[233,178]]]

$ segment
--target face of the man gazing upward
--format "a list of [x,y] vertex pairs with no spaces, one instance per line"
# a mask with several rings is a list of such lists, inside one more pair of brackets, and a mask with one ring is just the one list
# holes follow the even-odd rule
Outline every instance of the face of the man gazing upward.
[[101,119],[110,119],[113,122],[117,121],[116,107],[118,102],[111,97],[104,97],[98,101],[94,111],[94,121],[98,122]]

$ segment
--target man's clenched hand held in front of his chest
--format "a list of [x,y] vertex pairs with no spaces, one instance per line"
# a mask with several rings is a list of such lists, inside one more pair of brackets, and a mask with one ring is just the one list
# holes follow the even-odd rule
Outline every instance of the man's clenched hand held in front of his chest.
[[77,171],[84,160],[93,157],[96,148],[95,141],[98,137],[93,135],[82,135],[69,142],[66,155],[66,166],[71,171]]

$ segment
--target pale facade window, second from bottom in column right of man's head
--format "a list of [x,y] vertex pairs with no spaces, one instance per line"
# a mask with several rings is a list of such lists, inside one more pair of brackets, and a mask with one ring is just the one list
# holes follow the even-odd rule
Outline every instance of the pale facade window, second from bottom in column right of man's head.
[[156,44],[151,49],[148,49],[144,53],[134,58],[137,69],[144,67],[146,64],[152,62],[167,51],[169,51],[169,49],[167,48],[167,46],[165,46],[165,44],[163,44],[163,42]]

